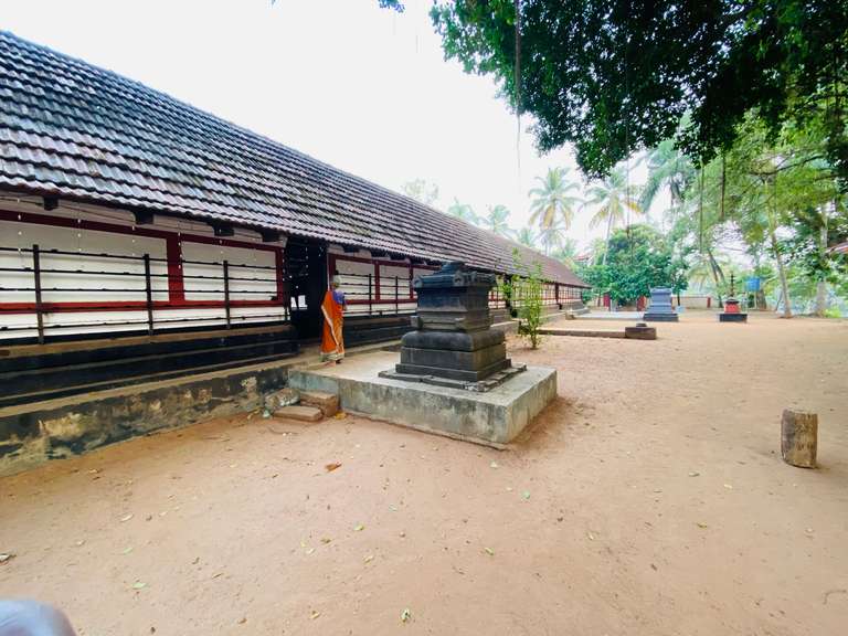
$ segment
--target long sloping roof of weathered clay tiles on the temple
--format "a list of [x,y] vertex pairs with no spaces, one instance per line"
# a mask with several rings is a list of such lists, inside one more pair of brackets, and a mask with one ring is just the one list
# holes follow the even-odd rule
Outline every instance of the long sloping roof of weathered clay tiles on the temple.
[[549,280],[565,265],[109,71],[0,31],[0,186]]

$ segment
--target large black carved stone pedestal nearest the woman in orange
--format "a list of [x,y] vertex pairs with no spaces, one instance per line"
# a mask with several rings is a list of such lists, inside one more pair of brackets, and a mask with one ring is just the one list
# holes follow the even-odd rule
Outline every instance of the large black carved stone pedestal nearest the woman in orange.
[[507,358],[504,332],[491,329],[494,285],[494,275],[463,263],[415,278],[415,331],[401,340],[401,362],[385,377],[485,391],[521,370]]

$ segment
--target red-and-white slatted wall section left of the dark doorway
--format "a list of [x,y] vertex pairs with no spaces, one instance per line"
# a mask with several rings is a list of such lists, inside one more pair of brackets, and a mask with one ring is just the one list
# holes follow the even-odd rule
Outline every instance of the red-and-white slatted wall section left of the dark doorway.
[[38,336],[33,245],[39,246],[41,308],[47,336],[147,329],[145,254],[150,258],[157,330],[285,320],[285,239],[235,230],[216,237],[206,223],[0,192],[0,341]]

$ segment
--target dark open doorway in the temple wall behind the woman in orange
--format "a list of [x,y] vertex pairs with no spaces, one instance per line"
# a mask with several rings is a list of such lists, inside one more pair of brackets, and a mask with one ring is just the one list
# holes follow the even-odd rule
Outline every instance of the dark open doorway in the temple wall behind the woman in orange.
[[327,244],[289,236],[286,243],[286,279],[292,325],[301,340],[321,335],[321,303],[327,292]]

